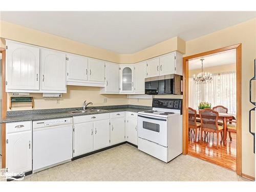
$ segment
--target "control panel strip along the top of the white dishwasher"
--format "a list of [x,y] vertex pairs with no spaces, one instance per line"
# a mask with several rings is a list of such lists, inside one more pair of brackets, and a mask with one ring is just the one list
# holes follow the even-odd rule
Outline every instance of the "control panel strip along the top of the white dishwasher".
[[62,124],[71,124],[73,123],[72,118],[61,118],[61,119],[47,119],[33,121],[33,129],[45,126],[56,126]]

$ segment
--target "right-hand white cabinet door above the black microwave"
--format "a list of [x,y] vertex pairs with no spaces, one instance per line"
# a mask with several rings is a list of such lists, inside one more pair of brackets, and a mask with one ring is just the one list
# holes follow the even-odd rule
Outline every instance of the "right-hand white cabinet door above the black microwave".
[[160,75],[175,74],[175,52],[160,56]]

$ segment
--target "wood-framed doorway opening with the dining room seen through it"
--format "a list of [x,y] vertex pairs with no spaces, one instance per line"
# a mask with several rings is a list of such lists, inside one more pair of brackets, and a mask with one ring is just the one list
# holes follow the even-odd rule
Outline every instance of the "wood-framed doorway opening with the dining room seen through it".
[[241,87],[237,87],[240,84],[237,77],[241,73],[238,71],[241,58],[237,47],[184,58],[187,73],[183,95],[186,100],[183,105],[186,109],[183,154],[240,175],[241,93],[238,91]]

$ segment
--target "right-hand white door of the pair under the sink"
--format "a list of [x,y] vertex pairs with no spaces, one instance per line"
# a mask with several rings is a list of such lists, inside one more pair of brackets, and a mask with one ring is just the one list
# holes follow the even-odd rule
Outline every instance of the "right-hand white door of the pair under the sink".
[[98,150],[110,144],[110,120],[104,119],[93,122],[94,138],[93,149]]

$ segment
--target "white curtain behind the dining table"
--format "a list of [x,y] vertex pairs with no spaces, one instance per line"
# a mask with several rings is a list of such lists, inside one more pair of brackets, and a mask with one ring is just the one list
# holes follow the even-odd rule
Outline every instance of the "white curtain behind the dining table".
[[228,113],[237,112],[236,72],[212,74],[212,81],[206,84],[196,84],[193,77],[188,80],[188,106],[198,109],[201,101],[211,103],[211,107],[223,105]]

